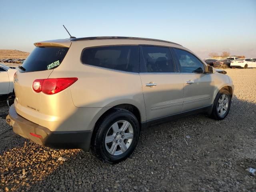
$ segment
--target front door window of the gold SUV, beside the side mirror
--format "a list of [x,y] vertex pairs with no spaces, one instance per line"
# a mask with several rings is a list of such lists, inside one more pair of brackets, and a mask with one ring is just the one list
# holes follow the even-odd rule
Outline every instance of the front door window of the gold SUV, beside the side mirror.
[[196,58],[193,54],[180,50],[174,49],[177,57],[178,62],[180,63],[180,68],[182,73],[204,73],[204,64]]

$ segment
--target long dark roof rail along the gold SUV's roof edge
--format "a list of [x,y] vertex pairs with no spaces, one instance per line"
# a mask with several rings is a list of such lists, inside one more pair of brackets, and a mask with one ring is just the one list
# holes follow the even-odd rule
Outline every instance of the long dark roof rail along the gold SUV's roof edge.
[[[148,40],[148,41],[158,41],[158,42],[164,42],[164,43],[172,43],[176,45],[180,45],[178,43],[165,41],[165,40],[159,40],[159,39],[150,39],[150,38],[140,38],[140,37],[117,37],[117,36],[102,36],[102,37],[82,37],[82,38],[72,38],[71,41],[83,41],[83,40],[96,40],[96,39],[132,39],[132,40]],[[182,46],[182,45],[180,45]]]

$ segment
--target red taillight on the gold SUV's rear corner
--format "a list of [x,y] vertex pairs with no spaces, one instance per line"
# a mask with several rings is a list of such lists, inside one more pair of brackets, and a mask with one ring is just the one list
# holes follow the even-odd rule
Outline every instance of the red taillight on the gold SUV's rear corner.
[[37,93],[42,91],[45,94],[52,95],[66,89],[77,80],[78,78],[76,77],[36,79],[32,84],[32,88]]

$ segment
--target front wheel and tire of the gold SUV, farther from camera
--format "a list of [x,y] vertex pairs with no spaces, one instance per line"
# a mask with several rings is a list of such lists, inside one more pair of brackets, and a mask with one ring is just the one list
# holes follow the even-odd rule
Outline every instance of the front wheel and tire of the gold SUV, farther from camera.
[[[224,97],[224,100],[221,101],[223,97]],[[228,101],[225,102],[226,99],[228,99]],[[221,103],[224,103],[224,104],[221,104]],[[214,100],[212,114],[210,115],[210,117],[215,120],[224,119],[229,113],[230,105],[231,105],[230,92],[226,89],[221,89],[216,95],[216,98]]]

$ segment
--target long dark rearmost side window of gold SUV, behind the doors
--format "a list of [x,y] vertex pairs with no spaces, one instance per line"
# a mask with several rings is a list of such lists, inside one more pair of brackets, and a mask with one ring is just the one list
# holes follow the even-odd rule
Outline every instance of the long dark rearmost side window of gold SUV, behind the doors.
[[128,45],[86,48],[82,52],[82,62],[92,66],[138,73],[139,47]]

